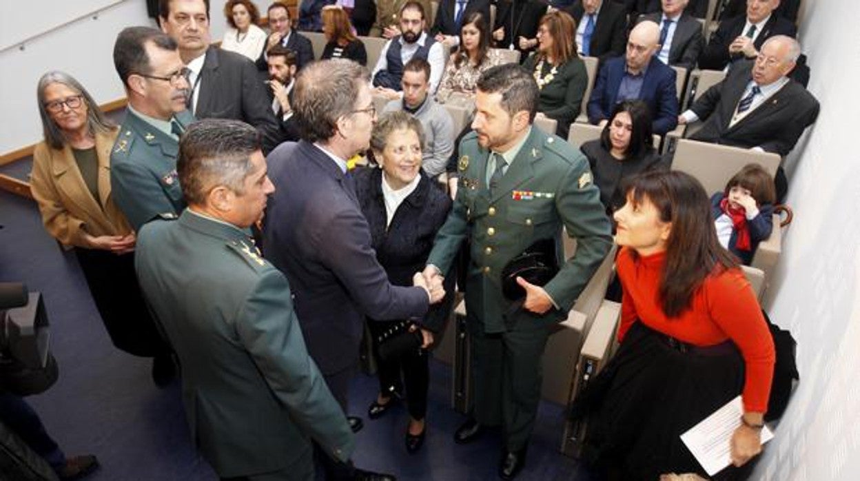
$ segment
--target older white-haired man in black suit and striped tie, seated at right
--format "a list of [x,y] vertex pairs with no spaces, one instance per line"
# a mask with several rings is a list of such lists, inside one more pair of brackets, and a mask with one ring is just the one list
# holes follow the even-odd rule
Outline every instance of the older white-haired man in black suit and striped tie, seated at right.
[[[693,106],[680,114],[687,124],[703,120],[693,140],[776,152],[794,148],[807,126],[818,118],[819,103],[800,83],[786,77],[795,67],[801,47],[789,36],[765,41],[759,56],[739,62]],[[782,167],[777,171],[777,200],[788,190]]]

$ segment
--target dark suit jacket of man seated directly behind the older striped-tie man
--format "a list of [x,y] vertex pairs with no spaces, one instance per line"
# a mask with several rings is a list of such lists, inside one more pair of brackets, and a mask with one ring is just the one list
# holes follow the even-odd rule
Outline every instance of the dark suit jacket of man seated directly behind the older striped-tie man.
[[[720,27],[710,36],[708,45],[704,47],[702,55],[699,57],[699,68],[715,71],[722,71],[726,65],[733,60],[728,53],[728,46],[732,44],[734,39],[739,35],[745,34],[744,26],[746,25],[746,15],[736,16],[728,20],[720,22]],[[761,29],[761,33],[756,37],[753,45],[756,50],[759,50],[765,40],[774,35],[788,35],[795,37],[797,29],[795,25],[788,20],[778,16],[771,15],[771,18],[765,22],[765,27]]]

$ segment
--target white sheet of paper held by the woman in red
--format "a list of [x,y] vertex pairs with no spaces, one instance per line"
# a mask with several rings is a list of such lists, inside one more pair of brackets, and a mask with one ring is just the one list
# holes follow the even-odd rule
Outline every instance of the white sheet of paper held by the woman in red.
[[[743,413],[743,402],[738,396],[681,435],[681,441],[684,441],[709,476],[732,464],[732,434],[740,426]],[[761,430],[761,443],[765,444],[771,439],[773,432],[765,426]]]

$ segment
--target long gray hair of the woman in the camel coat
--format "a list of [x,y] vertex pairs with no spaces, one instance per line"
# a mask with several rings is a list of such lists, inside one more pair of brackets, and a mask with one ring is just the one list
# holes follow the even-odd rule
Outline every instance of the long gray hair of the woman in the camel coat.
[[42,133],[45,136],[45,143],[52,149],[62,149],[66,143],[65,134],[53,121],[45,106],[45,90],[52,83],[61,83],[83,97],[83,104],[87,106],[87,128],[90,134],[110,132],[116,127],[101,113],[101,109],[96,105],[93,97],[75,77],[71,77],[63,71],[49,71],[39,79],[36,87],[36,100],[39,103],[39,116],[42,119]]

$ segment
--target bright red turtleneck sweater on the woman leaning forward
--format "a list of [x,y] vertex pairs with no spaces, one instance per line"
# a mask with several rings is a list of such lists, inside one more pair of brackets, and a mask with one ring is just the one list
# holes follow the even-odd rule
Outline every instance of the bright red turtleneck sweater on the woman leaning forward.
[[624,286],[618,342],[624,340],[636,319],[695,346],[713,346],[731,339],[746,364],[744,408],[765,412],[775,361],[773,337],[743,271],[733,268],[710,274],[693,294],[690,308],[677,318],[667,318],[659,294],[665,262],[665,252],[636,260],[628,248],[618,254],[618,277]]

